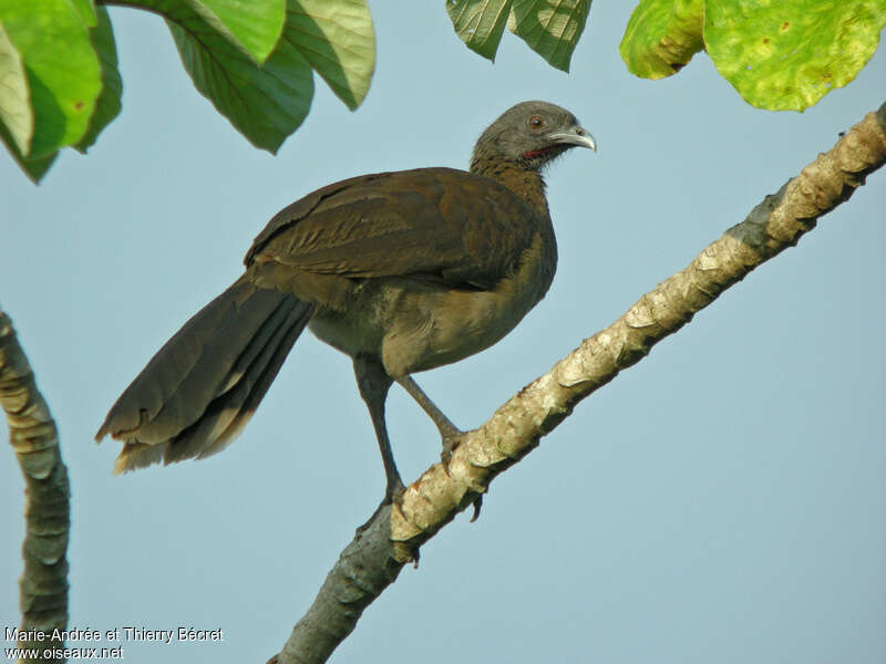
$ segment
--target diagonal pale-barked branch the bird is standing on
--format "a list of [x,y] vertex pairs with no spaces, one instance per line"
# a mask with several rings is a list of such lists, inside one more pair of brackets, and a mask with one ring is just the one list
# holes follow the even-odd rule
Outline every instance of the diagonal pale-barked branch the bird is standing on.
[[419,547],[486,492],[499,473],[537,447],[578,402],[639,362],[756,266],[796,245],[818,217],[847,200],[884,162],[886,103],[766,196],[687,268],[642,295],[470,432],[447,467],[434,464],[399,504],[379,510],[342,551],[313,604],[268,664],[326,662],[402,567],[418,561]]

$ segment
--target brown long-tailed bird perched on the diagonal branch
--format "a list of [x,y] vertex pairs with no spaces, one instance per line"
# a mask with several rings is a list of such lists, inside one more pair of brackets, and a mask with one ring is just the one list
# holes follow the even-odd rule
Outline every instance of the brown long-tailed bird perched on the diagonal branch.
[[597,151],[573,113],[522,102],[481,134],[466,172],[362,175],[280,210],[243,276],[111,407],[95,439],[123,443],[114,474],[224,449],[308,328],[352,359],[390,504],[404,488],[385,423],[390,387],[418,402],[451,454],[463,432],[412,374],[490,347],[545,295],[557,245],[543,170],[574,147]]

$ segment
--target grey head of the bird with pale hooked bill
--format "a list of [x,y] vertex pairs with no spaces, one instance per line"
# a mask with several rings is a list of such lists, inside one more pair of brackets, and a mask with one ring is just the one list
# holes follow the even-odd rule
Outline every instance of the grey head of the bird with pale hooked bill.
[[594,136],[566,108],[547,102],[522,102],[505,111],[481,135],[474,164],[511,162],[521,168],[540,168],[571,147],[597,152]]

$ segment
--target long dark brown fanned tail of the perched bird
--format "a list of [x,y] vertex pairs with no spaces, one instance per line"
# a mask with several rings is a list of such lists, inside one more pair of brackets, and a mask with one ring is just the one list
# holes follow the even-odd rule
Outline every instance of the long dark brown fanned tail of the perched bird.
[[315,305],[245,278],[157,351],[95,435],[124,442],[114,474],[224,449],[265,396]]

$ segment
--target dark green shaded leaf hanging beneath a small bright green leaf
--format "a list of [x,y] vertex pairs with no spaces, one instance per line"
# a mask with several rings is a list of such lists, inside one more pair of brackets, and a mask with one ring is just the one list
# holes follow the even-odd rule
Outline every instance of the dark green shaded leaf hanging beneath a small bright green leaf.
[[286,35],[259,69],[197,21],[169,30],[194,86],[256,147],[276,153],[305,121],[313,97],[310,64]]

